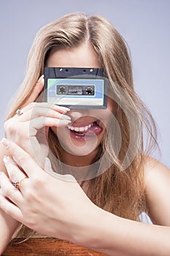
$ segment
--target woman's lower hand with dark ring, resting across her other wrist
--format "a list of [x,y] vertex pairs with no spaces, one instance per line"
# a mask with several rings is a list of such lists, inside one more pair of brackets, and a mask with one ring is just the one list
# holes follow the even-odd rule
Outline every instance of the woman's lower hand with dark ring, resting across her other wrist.
[[[9,178],[1,173],[0,208],[38,233],[76,243],[81,241],[80,233],[88,228],[91,217],[96,218],[97,207],[74,177],[58,174],[54,178],[23,148],[7,139],[2,143],[15,162],[4,157]],[[18,188],[13,183],[16,178]]]

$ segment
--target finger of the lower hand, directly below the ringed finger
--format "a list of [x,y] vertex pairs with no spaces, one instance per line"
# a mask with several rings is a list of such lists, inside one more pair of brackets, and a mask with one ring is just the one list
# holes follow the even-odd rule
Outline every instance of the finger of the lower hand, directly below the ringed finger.
[[1,195],[7,197],[12,203],[15,203],[16,206],[20,206],[23,203],[23,195],[20,190],[16,189],[9,178],[4,173],[1,173]]

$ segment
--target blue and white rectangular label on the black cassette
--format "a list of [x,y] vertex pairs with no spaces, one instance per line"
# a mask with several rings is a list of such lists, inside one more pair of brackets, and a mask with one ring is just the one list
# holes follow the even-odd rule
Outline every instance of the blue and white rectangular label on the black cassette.
[[47,80],[47,102],[58,105],[104,105],[104,80]]

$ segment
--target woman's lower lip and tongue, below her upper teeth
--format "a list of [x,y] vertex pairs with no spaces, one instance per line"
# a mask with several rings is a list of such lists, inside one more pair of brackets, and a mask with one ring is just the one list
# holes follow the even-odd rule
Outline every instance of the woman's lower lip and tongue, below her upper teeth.
[[[68,129],[68,128],[67,128]],[[72,130],[68,129],[70,132],[70,137],[73,138],[74,140],[78,141],[86,141],[86,140],[91,140],[94,137],[96,137],[98,134],[101,133],[101,127],[93,127],[93,132],[87,131],[85,135],[79,135],[76,132],[73,132]]]

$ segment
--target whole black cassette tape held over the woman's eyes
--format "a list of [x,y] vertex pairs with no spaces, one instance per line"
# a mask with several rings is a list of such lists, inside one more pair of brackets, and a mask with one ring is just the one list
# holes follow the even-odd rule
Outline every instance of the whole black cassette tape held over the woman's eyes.
[[44,97],[69,108],[107,108],[104,69],[45,67]]

